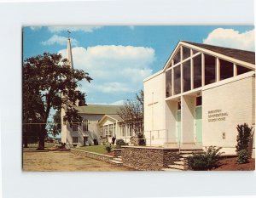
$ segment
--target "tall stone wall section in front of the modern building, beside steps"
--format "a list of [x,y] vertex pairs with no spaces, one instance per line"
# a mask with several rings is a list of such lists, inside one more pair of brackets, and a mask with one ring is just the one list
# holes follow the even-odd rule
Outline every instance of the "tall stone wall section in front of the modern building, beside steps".
[[159,171],[174,164],[174,161],[178,161],[178,159],[177,149],[122,146],[123,165],[137,170]]

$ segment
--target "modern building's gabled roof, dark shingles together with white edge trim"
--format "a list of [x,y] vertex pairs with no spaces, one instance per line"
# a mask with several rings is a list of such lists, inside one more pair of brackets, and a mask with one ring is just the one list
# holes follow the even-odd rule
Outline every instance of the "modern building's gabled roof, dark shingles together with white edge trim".
[[[219,58],[233,61],[236,64],[244,65],[250,69],[255,68],[255,52],[236,48],[224,48],[196,42],[180,41],[177,43],[177,46],[173,50],[169,59],[167,60],[166,65],[163,68],[163,71],[166,71],[166,69],[170,66],[171,60],[177,53],[177,50],[180,48],[180,46],[194,48],[195,50],[201,51],[202,53],[212,54],[214,56],[218,56]],[[147,79],[149,79],[150,77],[152,76],[149,76]]]

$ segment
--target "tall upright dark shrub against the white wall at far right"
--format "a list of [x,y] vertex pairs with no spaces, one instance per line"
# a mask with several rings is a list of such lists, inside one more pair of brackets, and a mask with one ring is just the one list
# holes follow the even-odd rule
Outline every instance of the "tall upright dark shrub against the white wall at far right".
[[237,125],[237,137],[236,137],[236,153],[240,150],[247,150],[252,135],[252,127],[248,127],[247,123]]

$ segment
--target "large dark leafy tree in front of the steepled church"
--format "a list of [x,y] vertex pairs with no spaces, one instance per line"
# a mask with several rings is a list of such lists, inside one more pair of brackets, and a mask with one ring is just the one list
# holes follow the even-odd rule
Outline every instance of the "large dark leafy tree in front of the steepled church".
[[82,122],[78,110],[74,108],[79,99],[85,105],[84,93],[78,88],[79,81],[92,79],[85,71],[70,68],[61,54],[44,53],[23,62],[23,134],[33,123],[38,137],[38,150],[44,150],[47,136],[47,121],[51,109],[66,110],[63,122]]

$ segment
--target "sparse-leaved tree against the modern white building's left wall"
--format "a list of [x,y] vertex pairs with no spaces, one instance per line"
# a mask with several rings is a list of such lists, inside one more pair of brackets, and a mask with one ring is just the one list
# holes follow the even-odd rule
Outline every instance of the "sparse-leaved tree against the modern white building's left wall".
[[144,116],[144,93],[141,90],[136,93],[135,99],[126,99],[123,107],[119,110],[119,116],[126,124],[133,128],[135,133],[143,132],[143,116]]

